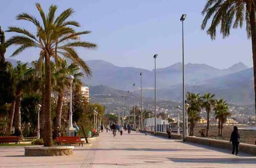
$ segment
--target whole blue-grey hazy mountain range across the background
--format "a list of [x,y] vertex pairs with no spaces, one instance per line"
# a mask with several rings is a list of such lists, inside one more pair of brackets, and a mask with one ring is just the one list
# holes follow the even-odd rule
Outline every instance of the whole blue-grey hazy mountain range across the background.
[[[16,60],[6,59],[16,65]],[[90,85],[90,94],[122,95],[133,90],[136,83],[140,94],[140,72],[143,72],[143,96],[154,97],[154,70],[119,67],[103,60],[86,61],[93,76],[82,79]],[[239,62],[227,69],[217,69],[206,64],[185,65],[185,91],[215,94],[229,103],[249,105],[254,103],[253,68]],[[182,63],[157,69],[157,98],[182,100]]]

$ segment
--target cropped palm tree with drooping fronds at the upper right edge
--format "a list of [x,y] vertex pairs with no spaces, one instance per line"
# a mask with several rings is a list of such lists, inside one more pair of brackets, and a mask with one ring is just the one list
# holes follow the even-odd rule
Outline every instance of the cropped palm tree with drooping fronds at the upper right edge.
[[[205,15],[201,29],[205,29],[208,20],[212,17],[207,34],[212,40],[216,37],[216,28],[220,25],[220,33],[223,38],[230,34],[231,28],[242,28],[246,23],[248,39],[251,38],[253,51],[253,67],[256,67],[256,2],[255,0],[207,0],[202,11]],[[256,79],[256,68],[254,68],[254,79]],[[256,102],[256,80],[254,80],[254,97]],[[256,103],[255,103],[256,108]],[[256,115],[255,115],[256,118]]]

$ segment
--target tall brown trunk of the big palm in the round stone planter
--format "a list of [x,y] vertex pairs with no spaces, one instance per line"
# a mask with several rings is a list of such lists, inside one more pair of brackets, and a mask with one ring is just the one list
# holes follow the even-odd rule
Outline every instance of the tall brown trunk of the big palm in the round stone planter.
[[52,112],[51,112],[51,63],[50,55],[45,55],[45,125],[44,125],[44,146],[52,146]]

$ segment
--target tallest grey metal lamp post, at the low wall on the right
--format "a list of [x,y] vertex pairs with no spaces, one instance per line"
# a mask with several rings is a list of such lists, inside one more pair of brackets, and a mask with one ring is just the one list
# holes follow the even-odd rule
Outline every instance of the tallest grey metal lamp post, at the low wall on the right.
[[183,136],[182,139],[185,142],[185,64],[184,64],[184,26],[183,22],[186,18],[186,14],[183,14],[180,18],[182,22],[182,110],[183,110]]

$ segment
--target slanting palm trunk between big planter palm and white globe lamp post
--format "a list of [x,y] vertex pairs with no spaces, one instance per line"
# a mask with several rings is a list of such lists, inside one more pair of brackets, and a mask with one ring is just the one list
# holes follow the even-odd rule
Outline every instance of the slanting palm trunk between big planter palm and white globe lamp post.
[[55,132],[54,137],[56,137],[57,134],[60,133],[62,106],[63,106],[63,90],[61,89],[58,94],[58,101],[57,101],[57,106],[55,109],[56,120],[55,120],[55,128],[54,128],[54,132]]

